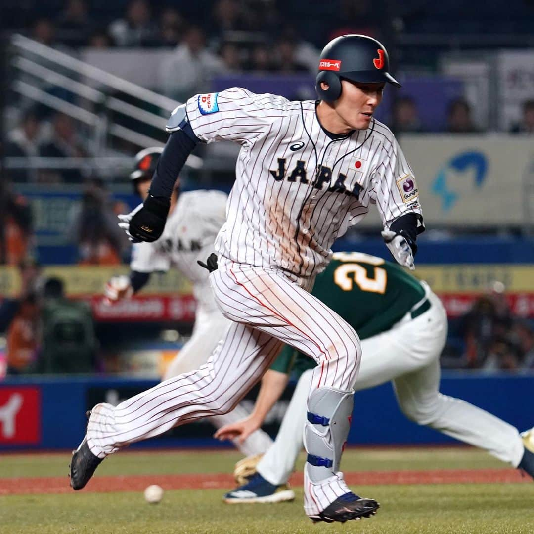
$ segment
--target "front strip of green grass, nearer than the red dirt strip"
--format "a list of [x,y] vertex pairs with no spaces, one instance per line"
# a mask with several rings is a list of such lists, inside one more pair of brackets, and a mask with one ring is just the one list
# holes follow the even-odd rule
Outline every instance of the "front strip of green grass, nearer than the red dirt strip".
[[72,493],[0,498],[2,534],[187,534],[361,532],[365,534],[532,534],[534,485],[366,486],[382,507],[371,519],[313,525],[293,503],[225,505],[221,491],[167,491],[159,505],[140,493]]

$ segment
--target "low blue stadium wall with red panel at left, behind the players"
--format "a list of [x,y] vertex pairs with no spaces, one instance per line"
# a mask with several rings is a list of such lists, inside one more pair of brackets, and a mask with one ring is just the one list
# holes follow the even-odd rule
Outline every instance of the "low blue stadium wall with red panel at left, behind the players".
[[[0,451],[61,450],[77,446],[85,432],[85,411],[104,400],[135,395],[154,386],[155,380],[106,378],[9,379],[0,384],[0,406],[22,398],[15,425],[8,429],[0,422]],[[487,375],[444,373],[441,390],[490,411],[520,430],[532,426],[532,375]],[[264,428],[276,434],[280,418],[292,392],[273,409],[275,416]],[[249,401],[252,402],[252,396]],[[170,433],[132,447],[221,446],[211,438],[213,428],[205,420],[178,427]],[[350,445],[430,445],[451,444],[453,439],[423,428],[400,413],[391,385],[360,391],[355,396],[355,412]]]

